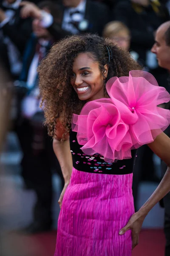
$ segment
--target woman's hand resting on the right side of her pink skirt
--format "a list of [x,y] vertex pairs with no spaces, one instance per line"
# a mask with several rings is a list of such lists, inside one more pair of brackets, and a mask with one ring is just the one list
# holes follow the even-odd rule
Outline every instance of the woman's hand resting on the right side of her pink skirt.
[[119,231],[119,235],[125,234],[127,230],[132,230],[132,249],[139,244],[139,232],[144,221],[144,216],[139,215],[138,212],[134,213],[125,227]]

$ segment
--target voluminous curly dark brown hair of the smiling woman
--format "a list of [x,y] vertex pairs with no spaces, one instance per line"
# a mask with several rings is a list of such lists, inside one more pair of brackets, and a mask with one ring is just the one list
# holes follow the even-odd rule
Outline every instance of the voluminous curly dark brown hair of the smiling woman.
[[[113,55],[110,63],[107,47],[110,47]],[[101,72],[104,71],[105,64],[109,65],[105,82],[113,76],[129,76],[130,70],[142,69],[129,53],[119,48],[113,41],[95,34],[72,35],[54,44],[38,67],[45,125],[52,137],[55,137],[57,120],[62,119],[65,134],[68,133],[71,129],[72,114],[79,114],[85,104],[79,100],[70,83],[74,59],[81,52],[90,53],[91,58],[99,63]]]

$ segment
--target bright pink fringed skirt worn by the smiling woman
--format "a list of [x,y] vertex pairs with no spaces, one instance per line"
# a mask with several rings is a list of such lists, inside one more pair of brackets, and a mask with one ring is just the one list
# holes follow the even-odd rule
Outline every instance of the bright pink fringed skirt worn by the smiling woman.
[[131,256],[132,177],[73,168],[59,214],[54,256]]

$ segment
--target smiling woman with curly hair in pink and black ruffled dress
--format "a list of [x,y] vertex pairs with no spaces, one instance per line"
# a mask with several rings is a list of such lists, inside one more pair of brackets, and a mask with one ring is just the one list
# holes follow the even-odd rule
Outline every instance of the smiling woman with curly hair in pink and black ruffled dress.
[[170,95],[130,55],[97,35],[60,41],[39,67],[45,124],[65,186],[59,198],[55,256],[130,256],[142,222],[170,190],[170,170],[134,214],[136,149],[149,147],[170,166],[162,133]]

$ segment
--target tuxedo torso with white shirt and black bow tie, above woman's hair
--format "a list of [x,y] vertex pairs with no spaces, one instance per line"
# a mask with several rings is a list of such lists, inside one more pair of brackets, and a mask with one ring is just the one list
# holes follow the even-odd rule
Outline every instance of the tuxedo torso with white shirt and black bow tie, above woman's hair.
[[93,1],[62,0],[62,8],[62,28],[72,34],[91,32],[102,35],[110,18],[107,6]]

